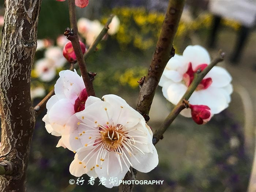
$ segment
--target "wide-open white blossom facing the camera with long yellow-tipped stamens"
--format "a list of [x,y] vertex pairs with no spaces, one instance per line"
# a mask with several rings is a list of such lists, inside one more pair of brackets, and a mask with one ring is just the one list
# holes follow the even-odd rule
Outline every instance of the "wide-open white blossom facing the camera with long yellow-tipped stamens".
[[[102,98],[90,96],[85,109],[72,116],[69,135],[62,137],[60,145],[76,152],[70,173],[119,181],[130,166],[144,173],[153,170],[158,154],[143,116],[117,95]],[[118,185],[106,182],[105,187]]]

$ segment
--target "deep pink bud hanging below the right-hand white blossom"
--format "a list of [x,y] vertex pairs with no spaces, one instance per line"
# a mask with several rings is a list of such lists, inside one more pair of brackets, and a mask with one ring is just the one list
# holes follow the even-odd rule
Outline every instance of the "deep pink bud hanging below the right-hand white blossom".
[[206,105],[189,104],[189,108],[191,109],[192,119],[199,125],[206,124],[212,117],[211,109]]

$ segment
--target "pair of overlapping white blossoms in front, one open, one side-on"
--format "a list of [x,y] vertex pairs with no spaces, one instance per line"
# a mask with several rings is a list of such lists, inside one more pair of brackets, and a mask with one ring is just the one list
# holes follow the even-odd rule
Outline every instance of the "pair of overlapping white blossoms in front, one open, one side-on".
[[61,136],[57,147],[75,153],[71,174],[122,180],[130,166],[149,172],[158,165],[150,127],[124,99],[88,97],[82,77],[70,70],[60,72],[54,92],[43,121],[49,133]]

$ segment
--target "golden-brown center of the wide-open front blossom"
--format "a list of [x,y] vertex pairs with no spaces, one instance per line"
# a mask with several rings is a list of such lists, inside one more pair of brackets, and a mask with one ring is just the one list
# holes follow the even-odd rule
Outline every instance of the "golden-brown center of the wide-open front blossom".
[[[109,151],[115,150],[118,147],[123,147],[122,141],[124,139],[124,131],[122,131],[122,125],[109,126],[108,129],[105,129],[102,133],[102,142],[105,143],[109,148]],[[121,128],[121,129],[120,129]],[[119,129],[119,130],[118,130]]]

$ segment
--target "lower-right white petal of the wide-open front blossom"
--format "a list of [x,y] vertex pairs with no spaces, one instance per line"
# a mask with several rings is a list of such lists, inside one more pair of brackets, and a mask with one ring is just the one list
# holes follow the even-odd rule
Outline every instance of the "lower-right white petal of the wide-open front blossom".
[[157,150],[155,149],[155,146],[152,144],[153,147],[153,153],[145,153],[143,155],[142,153],[139,153],[139,151],[134,151],[135,157],[139,160],[138,161],[131,157],[131,163],[132,167],[139,172],[147,173],[153,170],[158,165],[158,154]]

